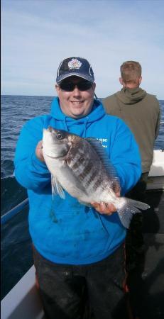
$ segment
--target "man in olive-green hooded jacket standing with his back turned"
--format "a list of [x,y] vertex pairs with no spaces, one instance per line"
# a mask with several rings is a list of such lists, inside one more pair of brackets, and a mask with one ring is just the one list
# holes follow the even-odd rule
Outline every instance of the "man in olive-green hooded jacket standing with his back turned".
[[[119,82],[121,91],[103,100],[106,112],[123,119],[129,126],[138,143],[142,159],[142,175],[133,190],[128,194],[136,200],[145,201],[148,173],[153,161],[153,147],[158,136],[160,107],[154,95],[140,88],[141,65],[127,61],[121,65]],[[142,214],[136,214],[126,237],[126,269],[136,267],[137,254],[143,252]],[[130,251],[130,252],[129,252]]]

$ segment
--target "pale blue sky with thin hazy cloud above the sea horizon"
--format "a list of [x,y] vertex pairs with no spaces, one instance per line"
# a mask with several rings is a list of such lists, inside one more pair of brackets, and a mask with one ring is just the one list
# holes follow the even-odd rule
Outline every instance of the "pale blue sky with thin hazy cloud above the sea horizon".
[[164,99],[164,0],[2,0],[1,94],[55,96],[58,65],[85,57],[98,97],[121,89],[120,65]]

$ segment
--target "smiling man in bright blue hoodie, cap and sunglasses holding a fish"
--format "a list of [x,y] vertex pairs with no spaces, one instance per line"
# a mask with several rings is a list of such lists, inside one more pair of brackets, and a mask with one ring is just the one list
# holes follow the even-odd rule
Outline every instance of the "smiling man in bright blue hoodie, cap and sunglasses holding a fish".
[[42,153],[43,128],[50,125],[99,139],[119,176],[121,195],[141,176],[138,146],[126,124],[106,115],[102,103],[94,99],[96,84],[87,60],[63,60],[56,82],[58,97],[50,114],[24,125],[15,156],[16,179],[28,189],[29,229],[43,308],[47,319],[91,315],[120,319],[125,309],[126,229],[113,205],[92,203],[88,208],[67,192],[65,199],[53,200]]

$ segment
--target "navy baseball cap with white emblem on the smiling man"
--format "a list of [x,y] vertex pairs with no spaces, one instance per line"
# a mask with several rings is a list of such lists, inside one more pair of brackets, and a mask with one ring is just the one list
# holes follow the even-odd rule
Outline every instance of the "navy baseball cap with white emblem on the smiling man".
[[63,79],[67,77],[82,77],[89,82],[94,82],[94,72],[89,62],[83,57],[67,57],[62,60],[58,67],[56,83],[59,84]]

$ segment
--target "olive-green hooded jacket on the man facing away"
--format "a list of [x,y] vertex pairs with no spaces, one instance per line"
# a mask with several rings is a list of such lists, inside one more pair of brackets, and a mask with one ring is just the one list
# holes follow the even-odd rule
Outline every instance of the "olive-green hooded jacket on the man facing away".
[[137,87],[123,88],[103,99],[102,103],[106,113],[118,116],[129,126],[140,148],[142,171],[149,172],[160,125],[158,100]]

